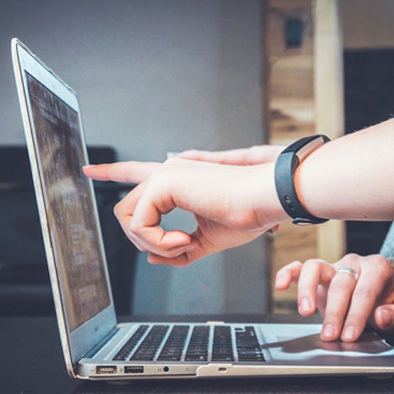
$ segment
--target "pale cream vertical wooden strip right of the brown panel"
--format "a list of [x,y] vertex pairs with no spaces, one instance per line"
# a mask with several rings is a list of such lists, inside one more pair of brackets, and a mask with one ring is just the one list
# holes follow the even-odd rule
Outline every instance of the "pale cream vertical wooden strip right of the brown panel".
[[[333,0],[317,0],[314,37],[316,133],[334,139],[344,134],[344,78],[341,13]],[[317,228],[317,256],[337,261],[345,252],[343,221],[330,220]]]

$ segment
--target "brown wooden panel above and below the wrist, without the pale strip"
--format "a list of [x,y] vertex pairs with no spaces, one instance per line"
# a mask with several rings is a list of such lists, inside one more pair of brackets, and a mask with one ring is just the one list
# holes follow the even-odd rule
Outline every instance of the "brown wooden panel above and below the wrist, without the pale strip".
[[[286,21],[302,21],[302,45],[287,48]],[[264,10],[264,67],[266,131],[268,142],[289,145],[314,133],[314,23],[312,0],[267,0]],[[291,261],[305,261],[317,255],[314,227],[283,223],[273,238],[272,280]],[[296,299],[296,287],[273,291],[273,312]],[[282,306],[280,306],[282,305]]]

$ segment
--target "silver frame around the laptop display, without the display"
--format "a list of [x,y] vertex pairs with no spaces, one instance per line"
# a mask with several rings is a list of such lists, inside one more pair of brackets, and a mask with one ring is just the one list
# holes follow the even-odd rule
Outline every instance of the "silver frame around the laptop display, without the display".
[[[48,261],[48,268],[50,271],[50,280],[53,288],[53,296],[55,301],[55,310],[58,318],[58,325],[60,328],[60,338],[62,340],[63,351],[65,352],[66,363],[70,361],[72,366],[87,354],[99,341],[111,332],[116,326],[116,314],[114,309],[114,300],[111,294],[111,285],[109,283],[108,268],[106,266],[106,258],[104,253],[104,243],[102,241],[101,229],[99,227],[99,217],[97,212],[96,199],[94,198],[94,191],[92,181],[89,180],[89,192],[92,194],[92,203],[94,206],[94,220],[97,222],[99,233],[99,254],[104,262],[104,273],[106,286],[109,291],[110,304],[101,312],[96,314],[91,319],[84,322],[80,327],[70,331],[67,310],[65,309],[65,302],[62,300],[62,292],[60,289],[59,270],[55,263],[54,246],[50,238],[50,230],[48,227],[48,218],[46,214],[45,193],[43,190],[43,174],[40,163],[40,156],[38,155],[38,148],[35,139],[35,128],[33,123],[33,116],[31,111],[31,103],[28,93],[28,84],[26,72],[30,74],[40,84],[49,89],[53,94],[59,97],[63,102],[69,105],[78,114],[80,123],[82,151],[84,153],[84,162],[87,164],[87,149],[84,140],[84,133],[82,128],[82,119],[80,113],[80,105],[75,92],[63,82],[60,77],[50,70],[39,58],[31,53],[26,45],[21,41],[13,39],[11,43],[13,51],[13,66],[16,77],[16,84],[18,87],[18,97],[21,104],[21,111],[23,117],[23,128],[25,129],[26,142],[28,154],[31,162],[31,171],[33,175],[33,184],[35,187],[35,195],[38,204],[40,224],[43,232],[43,240],[45,245],[45,253]],[[68,356],[67,356],[68,351]],[[70,360],[69,360],[70,358]],[[70,368],[69,368],[70,372]]]

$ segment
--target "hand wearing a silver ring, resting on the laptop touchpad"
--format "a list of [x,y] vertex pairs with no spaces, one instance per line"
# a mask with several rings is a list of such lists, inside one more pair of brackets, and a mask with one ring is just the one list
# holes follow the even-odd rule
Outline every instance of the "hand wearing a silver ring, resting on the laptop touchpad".
[[383,256],[348,254],[334,264],[294,261],[278,271],[275,289],[287,290],[292,282],[300,314],[310,316],[316,308],[324,314],[323,341],[356,341],[367,322],[394,329],[394,269]]

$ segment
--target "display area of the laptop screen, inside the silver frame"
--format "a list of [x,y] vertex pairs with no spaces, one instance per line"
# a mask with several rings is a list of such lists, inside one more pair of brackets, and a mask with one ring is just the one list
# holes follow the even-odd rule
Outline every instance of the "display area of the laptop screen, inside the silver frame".
[[50,239],[70,332],[110,305],[77,112],[26,72]]

